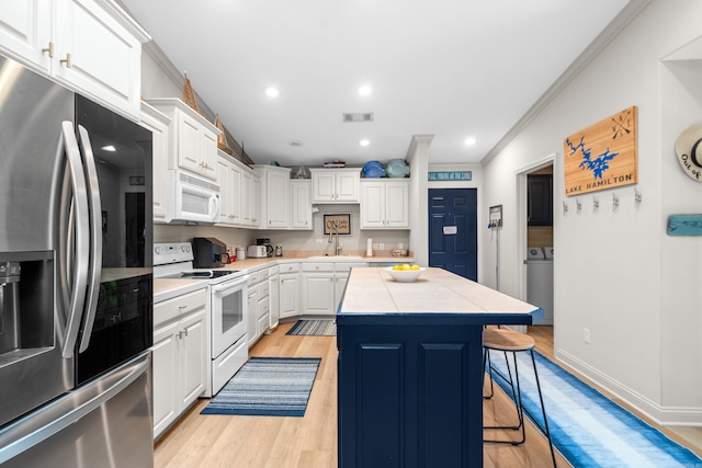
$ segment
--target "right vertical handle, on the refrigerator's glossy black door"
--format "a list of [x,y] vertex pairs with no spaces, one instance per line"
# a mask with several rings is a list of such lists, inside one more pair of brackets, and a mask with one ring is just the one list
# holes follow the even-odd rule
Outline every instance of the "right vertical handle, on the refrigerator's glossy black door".
[[102,206],[100,204],[100,185],[98,183],[98,170],[95,168],[95,157],[92,152],[90,136],[88,130],[78,126],[80,136],[80,148],[86,164],[86,175],[88,185],[88,197],[90,207],[90,279],[88,283],[88,299],[86,304],[86,320],[83,324],[83,335],[80,340],[79,352],[82,353],[90,344],[92,326],[95,321],[95,310],[98,309],[98,298],[100,297],[100,272],[102,271]]

